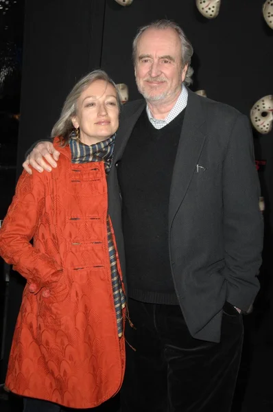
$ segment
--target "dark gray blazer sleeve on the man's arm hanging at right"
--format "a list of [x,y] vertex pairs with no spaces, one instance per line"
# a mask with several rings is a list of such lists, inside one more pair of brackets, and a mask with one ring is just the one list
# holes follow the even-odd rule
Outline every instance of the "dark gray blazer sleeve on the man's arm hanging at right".
[[226,300],[248,310],[259,290],[263,249],[260,186],[248,118],[239,115],[230,135],[223,170]]

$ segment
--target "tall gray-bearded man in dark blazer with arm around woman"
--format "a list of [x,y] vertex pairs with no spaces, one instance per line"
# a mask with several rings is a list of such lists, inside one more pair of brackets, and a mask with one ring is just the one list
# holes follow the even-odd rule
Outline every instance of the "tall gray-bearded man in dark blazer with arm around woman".
[[[144,100],[123,107],[108,176],[131,321],[123,412],[230,411],[241,311],[259,290],[263,222],[250,125],[187,89],[192,54],[165,20],[142,27],[133,43]],[[58,159],[49,142],[38,144],[25,169],[50,170],[42,155],[56,167],[49,153]]]

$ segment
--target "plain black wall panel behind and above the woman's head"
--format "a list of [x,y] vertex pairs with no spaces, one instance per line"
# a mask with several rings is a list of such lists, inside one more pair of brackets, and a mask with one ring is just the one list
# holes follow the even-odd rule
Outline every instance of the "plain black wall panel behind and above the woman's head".
[[48,137],[75,82],[98,68],[104,0],[26,0],[18,171],[25,151]]

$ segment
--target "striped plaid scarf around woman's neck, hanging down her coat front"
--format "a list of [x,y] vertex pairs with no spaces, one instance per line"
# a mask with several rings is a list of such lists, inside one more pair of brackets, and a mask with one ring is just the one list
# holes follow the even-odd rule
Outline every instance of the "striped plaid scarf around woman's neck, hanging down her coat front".
[[[69,141],[72,163],[87,163],[89,161],[103,161],[106,175],[112,165],[112,154],[115,146],[115,135],[97,144],[88,146],[80,140],[71,137]],[[117,317],[117,332],[119,337],[123,334],[122,309],[126,306],[126,297],[121,286],[121,279],[117,268],[116,249],[110,227],[110,217],[107,214],[107,239],[110,258],[110,270],[112,280],[112,293],[114,296],[115,311]]]

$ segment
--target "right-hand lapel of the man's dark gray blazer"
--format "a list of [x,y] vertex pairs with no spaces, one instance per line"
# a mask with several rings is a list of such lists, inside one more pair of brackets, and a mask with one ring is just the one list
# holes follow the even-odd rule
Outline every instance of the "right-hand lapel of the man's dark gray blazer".
[[205,122],[200,100],[204,98],[188,91],[188,103],[171,180],[169,227],[185,197],[205,141],[205,135],[200,130]]

